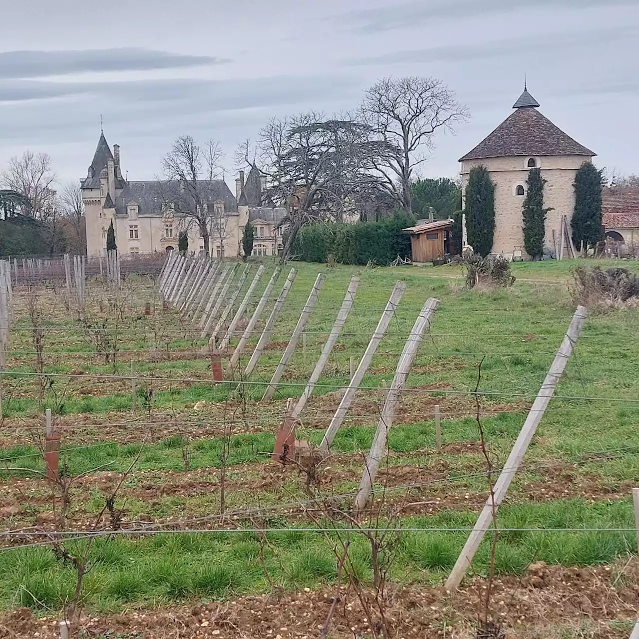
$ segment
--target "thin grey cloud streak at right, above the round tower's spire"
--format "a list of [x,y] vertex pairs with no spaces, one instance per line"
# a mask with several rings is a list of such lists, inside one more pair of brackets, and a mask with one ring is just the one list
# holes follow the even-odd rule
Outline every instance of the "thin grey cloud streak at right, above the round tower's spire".
[[553,33],[546,35],[509,38],[471,45],[447,45],[394,51],[380,56],[353,58],[346,63],[350,66],[396,65],[404,63],[463,62],[474,59],[504,58],[513,54],[529,56],[535,51],[535,59],[543,55],[554,55],[557,50],[585,47],[592,50],[597,45],[613,44],[618,47],[624,40],[636,41],[639,27],[614,27],[592,31],[573,31],[572,33]]

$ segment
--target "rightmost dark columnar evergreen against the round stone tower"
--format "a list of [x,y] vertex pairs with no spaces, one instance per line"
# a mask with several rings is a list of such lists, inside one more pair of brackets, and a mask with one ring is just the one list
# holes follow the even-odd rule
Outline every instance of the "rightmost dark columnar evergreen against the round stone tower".
[[594,247],[601,240],[601,171],[584,162],[574,178],[573,243],[579,249]]

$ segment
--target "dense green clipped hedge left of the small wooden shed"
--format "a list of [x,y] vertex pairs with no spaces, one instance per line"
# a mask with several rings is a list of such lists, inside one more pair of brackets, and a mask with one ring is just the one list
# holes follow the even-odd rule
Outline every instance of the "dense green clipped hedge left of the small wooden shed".
[[381,222],[309,224],[298,232],[292,252],[305,262],[330,258],[341,264],[387,265],[398,255],[410,258],[410,236],[403,229],[414,224],[415,218],[405,213]]

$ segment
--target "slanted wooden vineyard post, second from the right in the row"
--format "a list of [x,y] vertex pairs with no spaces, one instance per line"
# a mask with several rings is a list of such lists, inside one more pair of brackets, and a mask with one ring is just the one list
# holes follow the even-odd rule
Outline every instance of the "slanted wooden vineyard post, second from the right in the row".
[[402,391],[406,386],[406,380],[408,379],[408,373],[413,366],[415,357],[417,356],[417,350],[419,344],[424,339],[424,334],[429,330],[433,319],[433,314],[439,300],[434,297],[429,298],[419,316],[415,320],[413,330],[410,332],[406,344],[399,356],[397,362],[397,369],[395,376],[390,385],[390,389],[384,402],[384,407],[381,411],[381,417],[377,424],[377,431],[373,438],[373,444],[371,445],[371,451],[366,458],[366,466],[364,467],[364,474],[362,475],[362,481],[360,482],[357,496],[355,497],[355,511],[360,511],[366,506],[371,488],[375,482],[377,470],[380,466],[381,458],[386,450],[386,443],[389,436],[390,427],[393,425],[395,419],[395,413],[397,406],[399,405],[399,399],[401,398]]

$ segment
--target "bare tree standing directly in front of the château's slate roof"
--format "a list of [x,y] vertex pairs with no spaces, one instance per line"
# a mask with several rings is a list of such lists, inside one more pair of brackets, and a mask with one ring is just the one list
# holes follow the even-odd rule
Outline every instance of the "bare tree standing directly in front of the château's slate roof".
[[182,219],[185,230],[197,228],[207,255],[211,254],[210,222],[215,215],[213,180],[222,172],[221,160],[222,150],[215,140],[199,146],[190,135],[181,135],[162,158],[166,181],[158,185],[164,207]]

